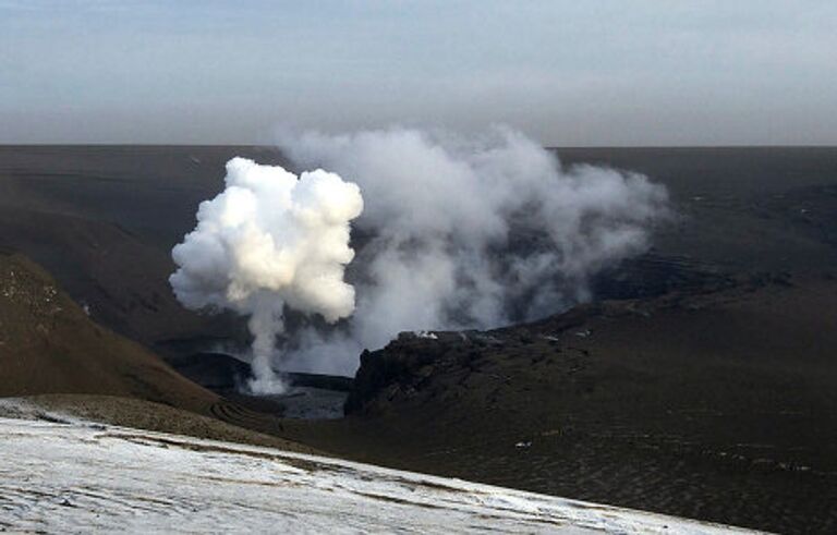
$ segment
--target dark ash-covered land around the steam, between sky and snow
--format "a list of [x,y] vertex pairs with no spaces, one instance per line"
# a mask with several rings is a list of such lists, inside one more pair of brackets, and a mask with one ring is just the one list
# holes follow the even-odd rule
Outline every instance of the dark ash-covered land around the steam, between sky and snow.
[[0,247],[57,281],[2,257],[3,288],[25,292],[0,296],[0,396],[136,398],[351,459],[834,532],[837,149],[558,154],[647,174],[679,217],[599,273],[591,304],[369,348],[348,416],[315,422],[219,399],[154,354],[177,364],[213,341],[246,343],[240,318],[174,300],[170,251],[230,157],[287,163],[276,150],[0,147]]

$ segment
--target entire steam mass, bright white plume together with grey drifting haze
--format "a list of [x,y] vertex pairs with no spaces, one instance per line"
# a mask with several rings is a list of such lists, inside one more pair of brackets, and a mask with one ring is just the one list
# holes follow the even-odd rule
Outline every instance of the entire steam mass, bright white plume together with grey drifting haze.
[[[597,270],[648,246],[667,194],[645,177],[562,168],[520,133],[478,139],[391,129],[280,136],[301,169],[234,159],[227,191],[204,203],[174,248],[171,278],[193,308],[251,315],[255,390],[275,387],[270,357],[283,308],[302,318],[278,342],[287,369],[352,374],[364,348],[403,330],[488,328],[583,301]],[[286,314],[284,317],[290,317]],[[294,319],[298,319],[294,316]],[[279,363],[276,363],[279,364]]]

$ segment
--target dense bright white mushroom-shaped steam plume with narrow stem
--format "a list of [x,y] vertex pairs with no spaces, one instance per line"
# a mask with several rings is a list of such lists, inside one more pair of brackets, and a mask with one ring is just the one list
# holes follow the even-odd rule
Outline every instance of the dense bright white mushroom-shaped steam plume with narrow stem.
[[197,227],[172,251],[170,282],[189,308],[250,315],[255,392],[281,391],[271,361],[283,309],[333,323],[354,309],[343,281],[354,257],[349,223],[363,210],[360,189],[323,170],[299,179],[281,167],[234,158],[226,190],[201,204]]

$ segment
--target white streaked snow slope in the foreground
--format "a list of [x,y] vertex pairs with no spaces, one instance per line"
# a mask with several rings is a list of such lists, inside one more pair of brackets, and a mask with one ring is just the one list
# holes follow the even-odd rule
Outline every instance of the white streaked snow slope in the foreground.
[[0,417],[0,530],[719,533],[727,528],[269,448]]

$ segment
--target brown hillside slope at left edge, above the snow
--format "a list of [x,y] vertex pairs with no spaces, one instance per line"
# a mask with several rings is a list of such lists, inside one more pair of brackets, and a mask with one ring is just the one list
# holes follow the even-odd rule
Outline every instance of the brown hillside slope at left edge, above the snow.
[[205,412],[217,397],[93,323],[39,266],[0,255],[0,397],[96,393]]

